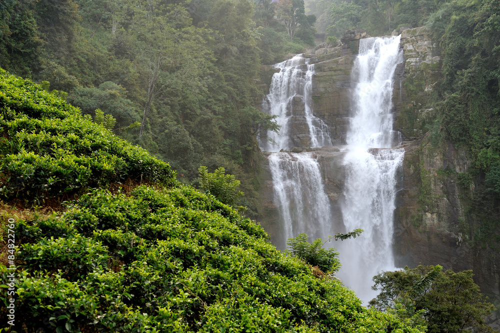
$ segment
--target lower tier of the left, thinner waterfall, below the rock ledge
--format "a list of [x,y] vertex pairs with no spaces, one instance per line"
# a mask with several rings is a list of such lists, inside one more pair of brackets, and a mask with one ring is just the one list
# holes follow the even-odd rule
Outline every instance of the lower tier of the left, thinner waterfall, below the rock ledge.
[[324,191],[319,164],[311,153],[273,153],[269,168],[282,230],[276,245],[305,232],[309,237],[324,237],[329,230],[330,204]]

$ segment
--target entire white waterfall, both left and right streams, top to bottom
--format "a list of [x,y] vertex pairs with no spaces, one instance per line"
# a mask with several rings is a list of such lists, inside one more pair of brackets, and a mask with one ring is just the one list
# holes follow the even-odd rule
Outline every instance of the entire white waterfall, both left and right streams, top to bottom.
[[260,141],[262,150],[272,152],[268,155],[269,171],[274,206],[280,215],[279,239],[273,242],[284,248],[287,238],[302,232],[312,240],[364,229],[356,239],[334,244],[342,263],[340,278],[363,301],[375,296],[371,278],[380,270],[394,269],[396,173],[404,157],[403,149],[392,148],[400,141],[399,133],[392,131],[391,114],[394,70],[403,61],[399,38],[359,41],[352,73],[352,118],[342,162],[346,174],[343,225],[332,225],[332,208],[315,155],[277,152],[331,145],[327,126],[312,113],[314,65],[302,55],[274,65],[280,71],[273,75],[269,95],[263,101],[264,111],[275,115],[281,126],[279,135],[268,133]]

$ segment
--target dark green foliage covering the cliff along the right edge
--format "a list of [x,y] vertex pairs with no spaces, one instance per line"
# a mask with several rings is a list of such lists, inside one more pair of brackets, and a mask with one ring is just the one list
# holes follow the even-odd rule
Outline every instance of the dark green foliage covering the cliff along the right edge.
[[436,84],[433,141],[467,150],[467,173],[457,175],[468,198],[467,222],[478,245],[495,251],[500,242],[500,4],[453,1],[428,20],[441,50],[442,76]]

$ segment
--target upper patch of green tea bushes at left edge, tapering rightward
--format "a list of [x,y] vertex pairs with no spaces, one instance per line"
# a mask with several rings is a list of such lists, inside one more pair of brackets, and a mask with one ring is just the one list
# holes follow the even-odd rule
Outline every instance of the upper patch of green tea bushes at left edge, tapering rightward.
[[0,70],[0,194],[41,202],[127,179],[173,184],[168,164]]

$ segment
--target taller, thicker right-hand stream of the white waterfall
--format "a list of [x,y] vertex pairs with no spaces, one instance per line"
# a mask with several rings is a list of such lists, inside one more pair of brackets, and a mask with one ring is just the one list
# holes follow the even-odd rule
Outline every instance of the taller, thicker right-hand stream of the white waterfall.
[[342,268],[339,276],[363,300],[376,293],[371,278],[381,270],[393,270],[392,228],[396,172],[404,150],[390,149],[392,85],[401,61],[399,36],[359,41],[353,78],[352,118],[347,132],[345,203],[342,217],[346,230],[364,229],[359,238],[337,243]]

